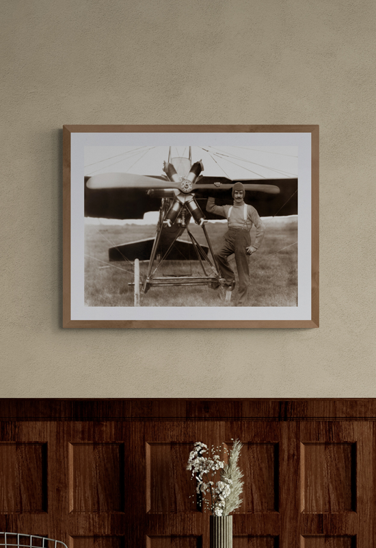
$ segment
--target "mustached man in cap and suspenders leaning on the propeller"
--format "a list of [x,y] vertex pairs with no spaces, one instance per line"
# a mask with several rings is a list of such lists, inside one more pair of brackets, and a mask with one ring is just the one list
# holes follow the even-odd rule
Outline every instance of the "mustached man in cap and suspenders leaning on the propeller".
[[[235,262],[239,275],[239,290],[237,306],[247,306],[248,286],[250,285],[250,269],[248,258],[260,247],[264,238],[265,227],[254,207],[244,203],[245,189],[243,184],[235,183],[232,187],[233,206],[216,206],[215,198],[209,198],[206,211],[226,217],[228,232],[224,235],[224,242],[215,255],[221,275],[226,279],[226,286],[233,290],[235,286],[234,271],[228,264],[228,256],[235,253]],[[251,245],[250,230],[256,227],[256,240]]]

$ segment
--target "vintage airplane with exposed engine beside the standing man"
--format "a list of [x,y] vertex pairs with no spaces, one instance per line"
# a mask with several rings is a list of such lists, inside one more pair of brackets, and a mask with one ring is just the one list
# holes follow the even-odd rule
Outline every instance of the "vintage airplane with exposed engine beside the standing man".
[[[209,196],[216,198],[217,205],[232,204],[235,182],[243,183],[245,202],[252,203],[260,216],[297,214],[297,178],[230,179],[202,175],[203,171],[202,160],[192,164],[191,147],[186,156],[173,156],[170,147],[167,162],[163,162],[163,175],[103,173],[85,177],[85,216],[143,219],[146,212],[159,211],[154,238],[109,248],[109,261],[135,262],[135,292],[139,288],[139,260],[149,262],[142,283],[144,293],[152,286],[224,286],[206,231],[209,219],[223,218],[206,212],[205,207]],[[191,219],[202,228],[207,245],[201,245],[191,233]],[[180,238],[184,232],[190,242]],[[156,275],[165,260],[198,260],[202,275]]]

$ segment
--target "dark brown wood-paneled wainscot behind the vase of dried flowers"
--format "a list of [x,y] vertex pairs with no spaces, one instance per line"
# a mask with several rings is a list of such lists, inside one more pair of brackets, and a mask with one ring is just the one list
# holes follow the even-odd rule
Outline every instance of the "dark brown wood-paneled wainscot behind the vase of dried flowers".
[[376,400],[0,400],[0,530],[209,548],[195,441],[243,443],[234,548],[376,548]]

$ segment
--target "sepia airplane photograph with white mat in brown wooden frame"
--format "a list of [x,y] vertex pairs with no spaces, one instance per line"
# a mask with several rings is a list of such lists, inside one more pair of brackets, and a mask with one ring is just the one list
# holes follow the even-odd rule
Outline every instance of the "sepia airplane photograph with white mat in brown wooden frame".
[[319,126],[63,136],[63,327],[319,327]]

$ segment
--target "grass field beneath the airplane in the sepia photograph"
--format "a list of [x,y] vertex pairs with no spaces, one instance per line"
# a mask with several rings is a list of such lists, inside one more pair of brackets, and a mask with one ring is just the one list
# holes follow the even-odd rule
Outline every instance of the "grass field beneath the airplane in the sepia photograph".
[[[297,306],[297,218],[266,219],[265,225],[263,245],[250,257],[248,306]],[[203,244],[202,229],[193,223],[189,227]],[[227,226],[208,223],[206,227],[216,252]],[[85,225],[85,306],[133,306],[133,286],[129,286],[133,282],[133,264],[120,261],[111,262],[110,266],[108,248],[153,236],[155,225]],[[254,234],[251,236],[253,242]],[[187,234],[182,237],[187,238]],[[230,264],[236,273],[233,256]],[[148,262],[140,263],[141,275],[147,268]],[[198,261],[166,261],[159,267],[158,275],[202,275],[202,270]],[[236,291],[235,288],[232,302],[236,300]],[[150,288],[146,295],[141,295],[141,306],[228,306],[228,303],[223,300],[221,290],[180,286]]]

